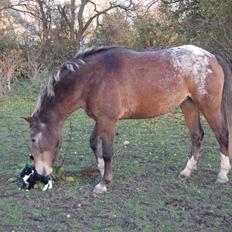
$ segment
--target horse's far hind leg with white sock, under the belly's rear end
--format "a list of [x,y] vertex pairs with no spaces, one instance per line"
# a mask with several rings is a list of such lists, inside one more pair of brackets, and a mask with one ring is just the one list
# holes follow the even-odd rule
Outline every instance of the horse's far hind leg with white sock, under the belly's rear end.
[[195,103],[189,98],[185,100],[180,107],[189,128],[192,141],[191,157],[189,158],[185,169],[180,173],[180,177],[188,178],[193,170],[197,169],[197,161],[200,158],[200,147],[204,131],[200,123],[200,112]]

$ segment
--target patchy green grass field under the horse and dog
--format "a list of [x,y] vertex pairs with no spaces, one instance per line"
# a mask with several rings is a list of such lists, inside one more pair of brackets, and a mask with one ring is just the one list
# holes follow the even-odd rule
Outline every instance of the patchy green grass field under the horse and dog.
[[[215,184],[219,149],[204,119],[199,169],[186,182],[178,178],[190,150],[178,110],[118,123],[114,180],[97,197],[92,189],[98,173],[83,172],[95,167],[89,148],[93,121],[82,111],[74,113],[63,130],[56,161],[63,166],[54,188],[19,190],[19,180],[12,177],[30,162],[29,128],[20,117],[31,113],[38,92],[23,89],[0,99],[0,231],[232,231],[232,178]],[[125,140],[130,143],[123,145]]]

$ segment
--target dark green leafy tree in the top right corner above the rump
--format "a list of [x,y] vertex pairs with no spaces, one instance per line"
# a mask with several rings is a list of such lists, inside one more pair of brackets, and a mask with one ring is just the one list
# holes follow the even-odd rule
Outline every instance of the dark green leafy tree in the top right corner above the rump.
[[[174,0],[173,0],[174,1]],[[186,42],[219,53],[232,63],[232,2],[230,0],[162,1],[173,6],[173,22]]]

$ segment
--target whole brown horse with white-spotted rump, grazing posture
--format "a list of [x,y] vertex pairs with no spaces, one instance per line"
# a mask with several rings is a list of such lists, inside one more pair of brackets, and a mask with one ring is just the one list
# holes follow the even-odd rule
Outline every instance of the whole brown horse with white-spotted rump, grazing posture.
[[[182,177],[200,157],[202,113],[220,145],[218,182],[228,181],[232,135],[232,75],[219,57],[192,45],[154,52],[120,47],[85,50],[63,64],[43,89],[31,117],[32,157],[36,170],[49,175],[61,145],[64,120],[83,108],[96,124],[90,146],[102,175],[95,193],[112,181],[115,125],[121,119],[154,118],[180,106],[192,149]],[[99,145],[102,145],[102,154]]]

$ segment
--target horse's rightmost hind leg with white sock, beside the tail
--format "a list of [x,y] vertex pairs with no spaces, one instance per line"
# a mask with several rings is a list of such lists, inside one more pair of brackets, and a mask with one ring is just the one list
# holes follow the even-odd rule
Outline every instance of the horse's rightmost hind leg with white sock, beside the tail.
[[228,152],[228,130],[224,122],[224,116],[219,107],[218,109],[207,109],[202,112],[214,131],[216,139],[220,145],[221,165],[216,182],[225,183],[229,180],[227,174],[229,173],[231,166]]

